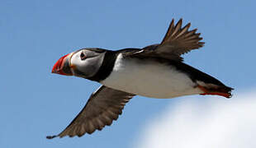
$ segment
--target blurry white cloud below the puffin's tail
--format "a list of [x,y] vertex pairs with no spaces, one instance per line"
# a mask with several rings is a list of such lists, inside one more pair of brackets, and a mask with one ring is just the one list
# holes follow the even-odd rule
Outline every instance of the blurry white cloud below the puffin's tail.
[[159,117],[150,118],[134,147],[256,147],[256,92],[231,99],[192,98],[181,99]]

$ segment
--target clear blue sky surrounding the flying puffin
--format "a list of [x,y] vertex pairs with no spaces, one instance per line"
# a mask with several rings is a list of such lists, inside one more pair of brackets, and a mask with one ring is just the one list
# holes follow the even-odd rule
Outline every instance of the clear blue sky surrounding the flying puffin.
[[[255,5],[220,0],[1,1],[0,147],[132,146],[150,118],[168,105],[192,98],[136,96],[118,121],[102,132],[50,141],[45,136],[61,132],[99,86],[51,74],[51,68],[77,49],[159,43],[172,18],[192,22],[206,42],[202,49],[184,55],[186,63],[234,87],[235,95],[255,88]],[[197,97],[198,104],[207,101],[207,96]]]

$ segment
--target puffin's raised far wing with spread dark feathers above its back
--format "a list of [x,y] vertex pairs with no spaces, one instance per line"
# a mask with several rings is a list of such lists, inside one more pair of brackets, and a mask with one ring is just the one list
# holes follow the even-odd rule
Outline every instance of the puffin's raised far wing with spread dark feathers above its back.
[[200,33],[196,33],[197,29],[188,30],[191,24],[188,23],[183,28],[182,24],[182,19],[176,25],[173,20],[161,44],[149,45],[134,53],[133,56],[183,61],[183,58],[180,57],[183,53],[199,49],[204,43],[200,42],[202,38],[199,37]]

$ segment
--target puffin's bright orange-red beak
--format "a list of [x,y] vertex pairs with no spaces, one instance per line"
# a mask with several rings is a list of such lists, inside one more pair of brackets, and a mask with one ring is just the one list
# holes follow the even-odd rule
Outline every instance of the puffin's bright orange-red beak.
[[69,55],[71,55],[71,53],[59,58],[51,72],[59,75],[73,76],[73,72],[71,71],[71,67],[69,65],[69,59],[71,57]]

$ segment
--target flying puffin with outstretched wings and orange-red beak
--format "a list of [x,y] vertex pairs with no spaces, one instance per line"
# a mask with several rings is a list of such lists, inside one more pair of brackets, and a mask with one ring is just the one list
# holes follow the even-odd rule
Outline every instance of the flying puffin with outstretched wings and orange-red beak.
[[68,127],[58,135],[83,136],[110,126],[135,95],[170,99],[183,95],[220,95],[230,98],[233,88],[183,62],[181,55],[201,48],[197,29],[183,19],[169,24],[160,44],[142,49],[79,49],[55,63],[52,73],[78,76],[102,84]]

